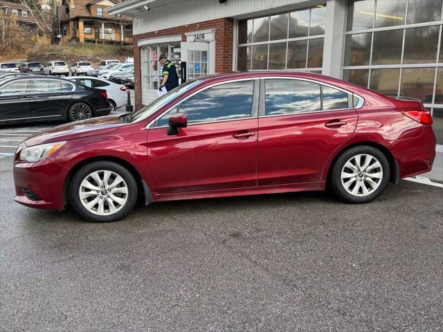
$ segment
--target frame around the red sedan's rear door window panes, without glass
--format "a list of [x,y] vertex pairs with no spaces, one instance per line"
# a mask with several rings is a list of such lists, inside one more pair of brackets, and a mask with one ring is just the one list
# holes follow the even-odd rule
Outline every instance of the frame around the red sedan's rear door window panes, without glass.
[[[302,112],[302,113],[290,113],[290,114],[275,114],[275,115],[269,115],[266,116],[266,91],[265,91],[265,84],[266,80],[298,80],[298,81],[305,81],[305,82],[311,82],[316,83],[320,85],[320,111],[309,111],[309,112]],[[333,84],[329,84],[326,82],[318,81],[318,80],[311,80],[309,78],[305,77],[284,77],[284,76],[266,76],[260,78],[260,103],[259,103],[259,110],[258,110],[258,118],[269,118],[273,116],[304,116],[305,114],[311,114],[311,113],[327,113],[327,112],[334,112],[334,111],[349,111],[352,109],[361,109],[363,107],[363,104],[365,103],[365,99],[361,97],[361,95],[357,95],[356,93],[353,93],[352,91],[348,91],[346,89],[341,88],[340,86],[336,86]],[[347,108],[346,109],[327,109],[323,110],[323,86],[329,86],[329,88],[336,89],[338,91],[343,91],[344,93],[347,93]],[[359,101],[354,106],[354,97],[357,98]]]

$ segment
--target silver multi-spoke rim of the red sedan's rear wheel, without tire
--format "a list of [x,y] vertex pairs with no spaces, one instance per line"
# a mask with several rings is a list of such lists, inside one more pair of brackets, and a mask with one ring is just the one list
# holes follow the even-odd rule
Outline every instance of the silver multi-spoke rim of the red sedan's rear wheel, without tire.
[[380,186],[383,167],[370,154],[352,156],[341,169],[341,183],[353,196],[368,196]]

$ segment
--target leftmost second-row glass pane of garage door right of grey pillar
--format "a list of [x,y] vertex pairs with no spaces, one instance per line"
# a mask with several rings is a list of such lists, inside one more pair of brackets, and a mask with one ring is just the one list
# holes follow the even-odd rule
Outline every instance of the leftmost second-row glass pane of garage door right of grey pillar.
[[345,66],[363,66],[369,64],[370,51],[370,33],[347,35],[345,42]]

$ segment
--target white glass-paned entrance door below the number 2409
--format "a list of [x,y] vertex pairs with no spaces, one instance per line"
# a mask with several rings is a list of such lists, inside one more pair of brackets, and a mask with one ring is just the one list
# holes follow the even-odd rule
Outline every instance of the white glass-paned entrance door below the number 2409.
[[186,62],[186,80],[208,75],[209,43],[182,42],[181,62]]

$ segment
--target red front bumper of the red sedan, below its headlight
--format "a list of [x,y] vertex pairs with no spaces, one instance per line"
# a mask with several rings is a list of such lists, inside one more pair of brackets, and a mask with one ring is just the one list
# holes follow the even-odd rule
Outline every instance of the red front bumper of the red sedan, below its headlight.
[[37,163],[15,160],[15,201],[29,208],[63,210],[64,179],[68,172],[69,169],[48,158]]

